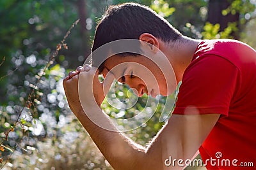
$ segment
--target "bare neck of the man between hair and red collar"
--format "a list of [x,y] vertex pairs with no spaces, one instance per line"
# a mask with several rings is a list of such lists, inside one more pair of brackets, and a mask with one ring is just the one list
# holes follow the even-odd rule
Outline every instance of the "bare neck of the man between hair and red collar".
[[185,69],[191,63],[198,43],[200,43],[198,39],[182,36],[175,43],[162,44],[161,50],[172,64],[177,83],[182,80]]

